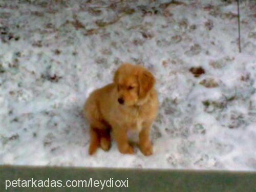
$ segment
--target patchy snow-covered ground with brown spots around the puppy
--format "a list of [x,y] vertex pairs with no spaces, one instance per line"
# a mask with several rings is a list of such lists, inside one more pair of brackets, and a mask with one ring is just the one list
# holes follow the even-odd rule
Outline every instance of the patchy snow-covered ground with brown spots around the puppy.
[[[256,170],[255,1],[240,11],[242,53],[236,1],[0,0],[0,164]],[[89,156],[83,102],[123,61],[157,78],[154,155]]]

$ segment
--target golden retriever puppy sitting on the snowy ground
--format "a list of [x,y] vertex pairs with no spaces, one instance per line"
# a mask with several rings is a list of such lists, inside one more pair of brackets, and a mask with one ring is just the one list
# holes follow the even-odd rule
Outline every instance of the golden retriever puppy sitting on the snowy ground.
[[114,75],[114,82],[91,93],[83,106],[83,116],[90,123],[89,154],[98,147],[108,151],[110,131],[122,154],[133,154],[127,139],[128,131],[139,134],[139,148],[152,155],[150,128],[158,111],[155,78],[142,66],[124,63]]

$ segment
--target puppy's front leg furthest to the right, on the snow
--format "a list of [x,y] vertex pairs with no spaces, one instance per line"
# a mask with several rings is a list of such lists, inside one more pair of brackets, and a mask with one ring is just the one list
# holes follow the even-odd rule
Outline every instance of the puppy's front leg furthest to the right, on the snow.
[[143,126],[143,129],[139,133],[140,151],[145,156],[149,156],[153,154],[152,144],[150,141],[150,128],[151,128],[151,122],[146,122]]

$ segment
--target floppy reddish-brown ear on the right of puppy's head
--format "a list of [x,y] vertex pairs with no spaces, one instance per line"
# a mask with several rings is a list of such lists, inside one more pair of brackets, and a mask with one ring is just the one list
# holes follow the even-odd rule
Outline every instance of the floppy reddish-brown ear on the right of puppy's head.
[[144,98],[146,94],[154,87],[155,77],[151,72],[142,70],[139,75],[139,97]]

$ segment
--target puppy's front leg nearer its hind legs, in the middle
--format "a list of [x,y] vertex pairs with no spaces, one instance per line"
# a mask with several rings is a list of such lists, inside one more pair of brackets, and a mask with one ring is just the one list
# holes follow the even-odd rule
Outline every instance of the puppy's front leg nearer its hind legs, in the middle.
[[122,154],[133,154],[133,147],[128,143],[126,129],[120,129],[120,127],[115,127],[113,129],[113,135],[117,142],[117,147]]

